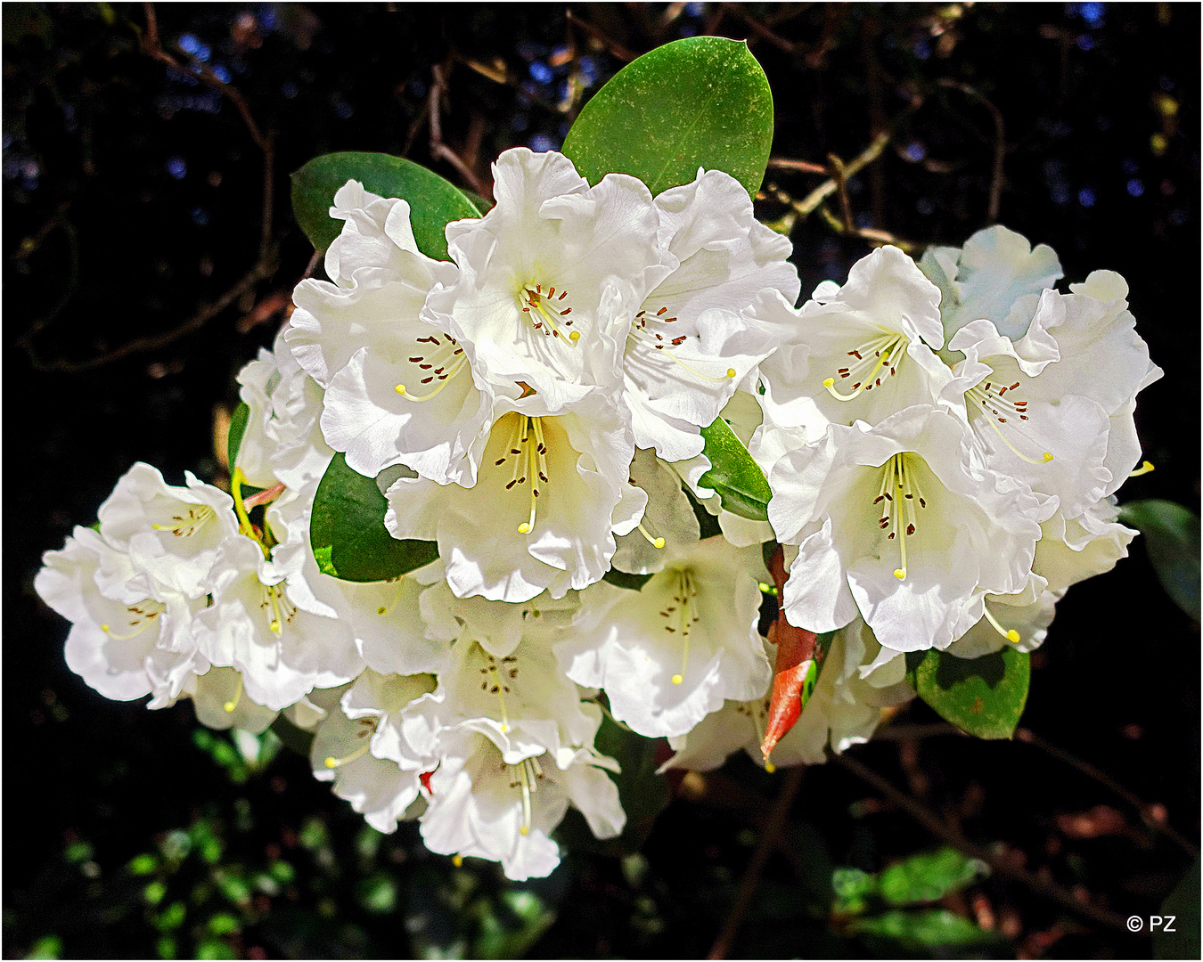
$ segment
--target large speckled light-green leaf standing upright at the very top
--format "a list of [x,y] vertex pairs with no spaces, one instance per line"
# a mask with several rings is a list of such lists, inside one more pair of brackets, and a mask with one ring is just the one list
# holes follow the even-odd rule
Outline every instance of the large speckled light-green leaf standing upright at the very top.
[[620,70],[585,105],[564,154],[591,184],[638,177],[652,194],[725,171],[753,197],[772,144],[772,93],[747,43],[688,37]]

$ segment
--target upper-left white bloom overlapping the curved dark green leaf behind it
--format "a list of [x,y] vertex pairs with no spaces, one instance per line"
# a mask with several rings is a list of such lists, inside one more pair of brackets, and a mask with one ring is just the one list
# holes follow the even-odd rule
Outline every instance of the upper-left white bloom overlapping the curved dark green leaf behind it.
[[326,388],[327,443],[369,477],[405,464],[440,483],[470,483],[492,394],[479,390],[456,339],[419,317],[455,267],[419,253],[405,201],[351,180],[331,216],[346,221],[326,254],[334,283],[297,286],[284,335]]

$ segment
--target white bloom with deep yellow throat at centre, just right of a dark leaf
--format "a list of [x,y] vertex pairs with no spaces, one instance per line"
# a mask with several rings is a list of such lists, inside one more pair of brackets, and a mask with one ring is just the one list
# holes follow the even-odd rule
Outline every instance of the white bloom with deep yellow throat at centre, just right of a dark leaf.
[[647,495],[632,487],[634,443],[602,393],[549,414],[535,394],[498,402],[475,486],[401,477],[387,491],[395,538],[438,541],[460,596],[529,601],[599,581],[616,534],[633,530]]

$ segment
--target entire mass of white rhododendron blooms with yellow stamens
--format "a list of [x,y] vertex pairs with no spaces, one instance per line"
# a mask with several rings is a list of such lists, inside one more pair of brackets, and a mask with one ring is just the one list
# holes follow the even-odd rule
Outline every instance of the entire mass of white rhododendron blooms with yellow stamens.
[[[867,738],[914,694],[906,652],[1035,647],[1126,552],[1112,495],[1160,370],[1118,275],[1059,293],[1053,253],[996,227],[918,265],[877,250],[795,309],[789,242],[722,172],[656,197],[555,153],[493,173],[450,261],[404,200],[343,186],[328,280],[239,375],[232,492],[136,464],[47,552],[36,588],[88,684],[191,697],[214,728],[283,713],[371,825],[416,818],[432,850],[521,879],[557,863],[569,806],[623,829],[604,711],[666,737],[669,766],[761,760],[764,542],[786,548],[788,622],[836,631],[783,764]],[[705,486],[719,417],[768,522]],[[435,560],[325,572],[309,529],[336,455]]]

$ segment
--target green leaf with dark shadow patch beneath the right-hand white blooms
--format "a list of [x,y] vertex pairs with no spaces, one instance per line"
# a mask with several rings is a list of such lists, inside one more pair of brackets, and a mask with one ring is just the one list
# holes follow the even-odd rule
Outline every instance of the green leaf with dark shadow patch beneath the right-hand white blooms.
[[907,652],[907,681],[936,713],[978,738],[1009,738],[1027,702],[1031,664],[1006,647],[982,658]]

